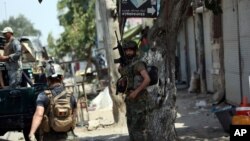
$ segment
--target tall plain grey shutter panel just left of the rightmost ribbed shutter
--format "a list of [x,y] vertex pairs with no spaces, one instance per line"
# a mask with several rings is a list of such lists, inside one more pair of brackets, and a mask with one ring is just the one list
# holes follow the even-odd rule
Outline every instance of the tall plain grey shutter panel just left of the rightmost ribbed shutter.
[[223,0],[222,9],[226,101],[239,104],[241,86],[236,1]]

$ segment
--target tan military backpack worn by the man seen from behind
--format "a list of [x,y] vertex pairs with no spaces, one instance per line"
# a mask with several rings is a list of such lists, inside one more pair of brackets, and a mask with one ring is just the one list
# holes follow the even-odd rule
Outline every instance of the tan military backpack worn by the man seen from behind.
[[55,132],[67,132],[74,128],[75,119],[71,107],[71,94],[62,91],[59,95],[53,96],[50,90],[45,90],[49,98],[49,105],[45,111],[42,122],[44,132],[53,129]]

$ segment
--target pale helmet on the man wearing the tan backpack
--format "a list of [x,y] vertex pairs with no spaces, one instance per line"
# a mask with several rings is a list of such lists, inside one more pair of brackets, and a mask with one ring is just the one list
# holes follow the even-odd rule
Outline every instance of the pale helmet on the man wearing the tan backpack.
[[64,71],[61,68],[60,65],[58,64],[54,64],[54,63],[49,63],[46,65],[45,68],[45,75],[46,77],[53,77],[56,78],[58,76],[63,76],[64,75]]

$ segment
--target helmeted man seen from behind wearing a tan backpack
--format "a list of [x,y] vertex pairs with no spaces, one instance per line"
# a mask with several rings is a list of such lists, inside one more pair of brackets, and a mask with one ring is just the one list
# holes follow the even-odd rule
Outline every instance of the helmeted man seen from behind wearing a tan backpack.
[[76,140],[73,129],[76,119],[76,100],[63,86],[63,70],[52,62],[45,67],[48,89],[40,93],[36,100],[29,138],[44,141]]

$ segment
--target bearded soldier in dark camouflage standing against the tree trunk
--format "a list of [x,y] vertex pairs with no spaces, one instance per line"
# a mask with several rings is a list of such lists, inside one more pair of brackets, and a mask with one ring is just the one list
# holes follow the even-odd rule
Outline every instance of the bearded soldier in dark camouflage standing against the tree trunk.
[[129,64],[119,67],[122,77],[127,79],[126,94],[126,116],[130,141],[149,141],[146,130],[148,114],[148,92],[150,77],[145,64],[136,56],[137,44],[128,41],[123,46]]

